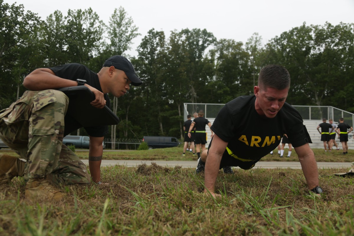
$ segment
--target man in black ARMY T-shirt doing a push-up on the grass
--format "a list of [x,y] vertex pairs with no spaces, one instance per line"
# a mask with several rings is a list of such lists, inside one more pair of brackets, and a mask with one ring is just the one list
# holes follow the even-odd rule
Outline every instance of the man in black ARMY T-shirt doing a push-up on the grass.
[[255,95],[235,98],[219,111],[211,126],[214,136],[209,149],[202,152],[197,166],[198,170],[205,165],[204,193],[220,196],[215,193],[219,169],[251,169],[279,145],[285,133],[298,155],[308,188],[322,193],[307,129],[298,111],[285,103],[289,87],[289,72],[280,65],[268,65],[259,73]]

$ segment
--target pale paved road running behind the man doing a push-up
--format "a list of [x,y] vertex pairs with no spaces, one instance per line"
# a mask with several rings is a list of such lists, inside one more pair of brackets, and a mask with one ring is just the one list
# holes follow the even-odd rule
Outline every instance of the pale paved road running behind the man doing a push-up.
[[[89,160],[82,160],[85,164],[89,163]],[[185,168],[196,168],[196,161],[138,161],[138,160],[102,160],[101,166],[115,166],[124,165],[127,167],[135,167],[146,163],[146,165],[151,165],[151,162],[155,162],[159,166],[182,166]],[[349,168],[350,162],[317,162],[318,168]],[[239,168],[239,167],[235,167]],[[290,162],[290,161],[259,161],[254,168],[293,168],[300,169],[300,162]]]

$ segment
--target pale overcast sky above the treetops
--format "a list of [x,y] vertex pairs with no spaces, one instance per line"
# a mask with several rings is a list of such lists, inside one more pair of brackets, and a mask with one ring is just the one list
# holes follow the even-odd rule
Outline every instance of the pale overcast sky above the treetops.
[[246,42],[257,32],[263,43],[306,22],[307,25],[354,23],[354,0],[5,0],[8,4],[23,4],[25,10],[45,18],[59,10],[91,7],[108,24],[114,8],[124,7],[142,34],[134,40],[132,56],[147,32],[163,30],[166,37],[177,29],[206,29],[217,39]]

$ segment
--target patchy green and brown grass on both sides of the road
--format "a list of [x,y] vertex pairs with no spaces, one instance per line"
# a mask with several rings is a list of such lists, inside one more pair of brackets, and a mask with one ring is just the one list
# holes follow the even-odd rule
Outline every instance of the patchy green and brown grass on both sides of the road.
[[[318,161],[353,161],[352,150],[347,156],[314,151]],[[175,152],[118,155],[181,159],[181,151]],[[105,152],[104,159],[116,154]],[[308,192],[301,169],[221,171],[218,199],[202,193],[204,174],[178,166],[102,167],[102,180],[109,185],[61,186],[66,195],[57,203],[25,200],[24,181],[15,178],[0,186],[0,235],[354,235],[354,178],[331,175],[349,168],[319,169],[321,198]]]

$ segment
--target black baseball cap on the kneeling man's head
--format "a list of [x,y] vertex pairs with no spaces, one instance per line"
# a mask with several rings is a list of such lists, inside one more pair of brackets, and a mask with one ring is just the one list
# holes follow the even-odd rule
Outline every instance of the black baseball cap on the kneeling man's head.
[[133,64],[127,58],[123,56],[110,57],[104,62],[103,67],[111,67],[112,65],[115,69],[124,71],[130,81],[132,81],[132,85],[139,86],[143,83],[139,77],[136,76]]

